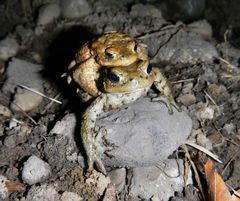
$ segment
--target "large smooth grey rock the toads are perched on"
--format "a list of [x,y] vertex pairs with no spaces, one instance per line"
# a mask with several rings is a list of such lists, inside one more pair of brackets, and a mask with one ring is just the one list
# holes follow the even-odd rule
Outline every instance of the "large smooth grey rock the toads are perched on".
[[[184,126],[183,126],[184,125]],[[166,159],[191,132],[184,112],[169,115],[162,103],[141,98],[128,109],[106,114],[97,121],[100,153],[106,166],[151,166]]]

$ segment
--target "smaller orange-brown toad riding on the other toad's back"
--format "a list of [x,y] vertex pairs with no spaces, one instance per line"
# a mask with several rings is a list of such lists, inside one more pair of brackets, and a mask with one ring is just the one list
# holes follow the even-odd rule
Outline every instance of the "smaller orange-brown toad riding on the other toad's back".
[[[137,60],[148,61],[146,45],[133,39],[126,33],[108,32],[85,43],[76,53],[75,59],[68,66],[68,83],[72,79],[90,96],[85,100],[100,94],[96,86],[99,70],[104,66],[128,67]],[[80,94],[81,95],[81,94]]]

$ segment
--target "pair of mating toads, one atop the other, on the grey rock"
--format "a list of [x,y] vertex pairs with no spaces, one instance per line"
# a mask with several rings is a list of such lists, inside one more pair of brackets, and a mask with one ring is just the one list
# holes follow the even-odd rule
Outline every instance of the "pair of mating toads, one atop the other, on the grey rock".
[[164,101],[170,114],[172,106],[180,110],[165,76],[149,64],[146,45],[126,33],[108,32],[85,43],[65,75],[68,83],[74,80],[79,85],[78,93],[83,101],[92,101],[82,116],[81,126],[88,171],[95,164],[106,174],[94,134],[96,119],[102,112],[134,102],[152,85],[157,91],[152,101]]

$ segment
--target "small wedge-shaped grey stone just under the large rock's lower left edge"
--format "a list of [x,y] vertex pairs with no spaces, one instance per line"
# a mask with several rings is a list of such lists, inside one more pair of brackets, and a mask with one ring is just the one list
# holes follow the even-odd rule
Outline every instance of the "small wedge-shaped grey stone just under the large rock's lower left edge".
[[116,190],[121,192],[125,186],[126,182],[126,169],[120,168],[108,172],[108,176],[111,179],[111,182],[115,185]]

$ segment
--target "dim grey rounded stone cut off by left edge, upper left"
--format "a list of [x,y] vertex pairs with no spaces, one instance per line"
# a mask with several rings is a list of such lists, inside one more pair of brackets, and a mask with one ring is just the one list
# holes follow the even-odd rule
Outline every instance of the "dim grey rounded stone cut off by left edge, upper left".
[[6,38],[0,41],[0,59],[3,61],[8,60],[11,57],[14,57],[19,51],[19,44],[17,41],[7,36]]

